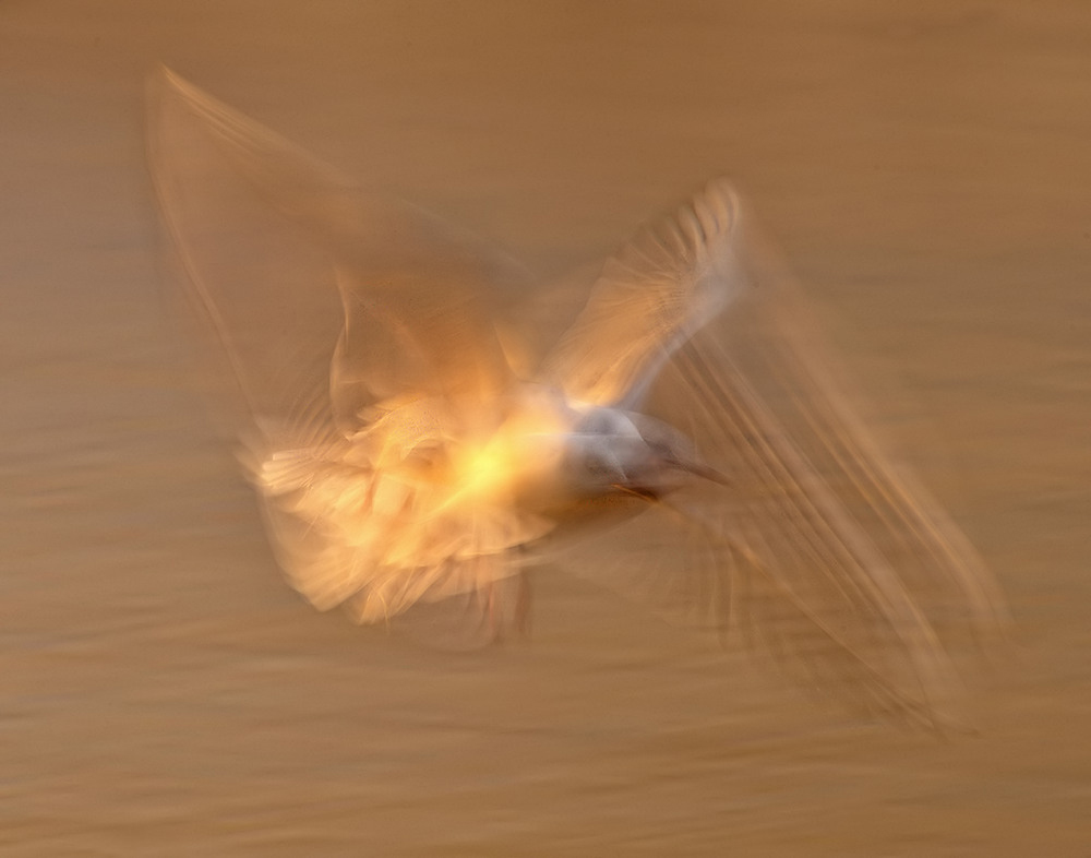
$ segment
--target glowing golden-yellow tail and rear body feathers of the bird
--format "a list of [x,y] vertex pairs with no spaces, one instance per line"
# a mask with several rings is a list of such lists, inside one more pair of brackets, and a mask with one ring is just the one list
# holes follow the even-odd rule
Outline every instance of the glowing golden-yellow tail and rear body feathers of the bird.
[[392,400],[376,412],[336,456],[275,452],[254,475],[269,509],[290,516],[274,529],[302,523],[308,545],[323,546],[283,558],[293,585],[319,608],[349,604],[375,622],[514,574],[501,562],[507,549],[553,526],[515,492],[549,467],[556,418],[532,397],[491,434],[481,408],[451,400]]

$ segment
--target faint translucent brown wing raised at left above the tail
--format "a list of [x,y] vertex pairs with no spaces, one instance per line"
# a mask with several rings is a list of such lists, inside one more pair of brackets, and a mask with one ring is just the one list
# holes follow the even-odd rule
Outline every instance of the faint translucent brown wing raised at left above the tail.
[[493,395],[508,369],[493,317],[526,283],[504,254],[360,191],[164,69],[148,159],[184,279],[250,413],[328,400],[351,425],[392,395]]

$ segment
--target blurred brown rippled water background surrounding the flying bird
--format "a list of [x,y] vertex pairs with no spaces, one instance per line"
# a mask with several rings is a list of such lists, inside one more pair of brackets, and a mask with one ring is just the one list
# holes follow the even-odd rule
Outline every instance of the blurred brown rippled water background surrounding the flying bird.
[[[1079,0],[0,3],[0,851],[1088,855],[1089,45]],[[305,606],[172,311],[158,62],[543,278],[731,176],[1007,591],[980,734],[565,576],[471,656]]]

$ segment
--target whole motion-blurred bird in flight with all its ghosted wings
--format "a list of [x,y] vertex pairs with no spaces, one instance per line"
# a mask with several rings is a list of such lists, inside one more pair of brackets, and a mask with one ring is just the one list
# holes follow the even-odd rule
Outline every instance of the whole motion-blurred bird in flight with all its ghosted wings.
[[565,569],[868,714],[960,723],[956,647],[1003,629],[998,585],[730,181],[551,289],[165,68],[146,139],[240,464],[315,608],[488,645]]

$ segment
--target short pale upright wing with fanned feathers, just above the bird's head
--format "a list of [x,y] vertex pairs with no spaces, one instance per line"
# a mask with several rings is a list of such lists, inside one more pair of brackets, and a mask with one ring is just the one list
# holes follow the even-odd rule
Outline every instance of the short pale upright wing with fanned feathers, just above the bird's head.
[[571,400],[636,409],[670,355],[733,298],[738,201],[710,182],[609,259],[543,367]]

